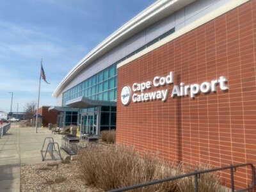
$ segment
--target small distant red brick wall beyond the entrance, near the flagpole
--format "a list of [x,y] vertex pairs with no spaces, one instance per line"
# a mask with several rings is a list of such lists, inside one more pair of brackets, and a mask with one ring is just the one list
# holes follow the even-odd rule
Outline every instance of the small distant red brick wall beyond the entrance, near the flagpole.
[[56,124],[57,118],[58,118],[58,112],[56,111],[48,111],[49,107],[42,106],[38,109],[40,115],[43,116],[43,124],[45,127],[48,126],[48,124]]

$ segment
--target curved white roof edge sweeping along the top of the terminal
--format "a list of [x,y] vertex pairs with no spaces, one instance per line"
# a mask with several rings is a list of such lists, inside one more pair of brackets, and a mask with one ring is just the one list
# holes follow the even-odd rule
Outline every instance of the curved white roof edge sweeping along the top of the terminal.
[[124,26],[117,29],[108,38],[101,42],[97,47],[95,47],[91,52],[89,52],[77,65],[70,70],[70,72],[63,78],[61,83],[58,85],[52,97],[58,97],[65,86],[72,81],[72,79],[81,72],[86,66],[88,66],[93,61],[97,60],[110,51],[116,45],[124,42],[132,35],[140,32],[141,30],[147,28],[148,26],[154,24],[155,22],[163,19],[167,15],[170,15],[180,8],[192,3],[195,0],[158,0],[156,3],[152,4],[143,12],[136,15],[134,18],[129,20]]

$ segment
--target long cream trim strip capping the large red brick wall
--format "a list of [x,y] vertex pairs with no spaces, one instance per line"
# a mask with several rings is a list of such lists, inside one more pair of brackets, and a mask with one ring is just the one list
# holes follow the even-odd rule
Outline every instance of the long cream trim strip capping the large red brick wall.
[[188,33],[189,31],[192,31],[193,29],[198,28],[199,26],[202,26],[203,24],[209,22],[210,20],[215,19],[216,17],[219,17],[220,15],[223,15],[224,13],[229,12],[230,10],[240,6],[241,4],[246,3],[247,1],[250,1],[250,0],[229,1],[228,3],[224,4],[220,8],[212,11],[211,13],[208,13],[207,15],[205,15],[204,17],[201,17],[200,19],[196,20],[195,22],[192,22],[188,26],[185,26],[184,28],[180,29],[179,31],[175,31],[175,33],[173,33],[170,36],[167,36],[163,40],[160,40],[156,44],[151,45],[150,47],[144,49],[143,51],[138,52],[138,54],[134,54],[134,56],[131,56],[131,58],[128,58],[127,60],[122,61],[121,63],[119,63],[117,65],[117,68],[120,68],[120,67],[126,65],[127,63],[130,63],[131,61],[134,61],[134,60],[140,58],[141,56],[147,54],[148,52],[151,52],[154,49],[157,49],[157,48],[161,47],[162,45],[167,44],[168,42],[171,42],[175,38],[178,38],[179,36],[182,36],[182,35]]

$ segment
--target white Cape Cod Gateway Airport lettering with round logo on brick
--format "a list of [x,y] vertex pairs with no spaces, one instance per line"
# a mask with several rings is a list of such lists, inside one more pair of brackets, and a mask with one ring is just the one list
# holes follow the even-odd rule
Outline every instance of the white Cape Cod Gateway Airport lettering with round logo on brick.
[[[180,83],[179,85],[173,86],[171,97],[180,97],[188,95],[191,98],[194,98],[200,92],[216,92],[217,86],[220,86],[220,89],[225,91],[228,90],[226,83],[227,79],[223,76],[221,76],[219,79],[214,79],[211,82],[203,82],[201,84]],[[150,90],[152,86],[159,88],[161,86],[165,86],[166,84],[173,84],[173,72],[170,72],[170,74],[168,74],[168,76],[166,77],[156,76],[154,77],[153,81],[132,84],[132,92],[134,92],[132,97],[130,86],[124,86],[121,92],[121,101],[124,105],[128,105],[131,100],[132,102],[143,102],[159,99],[164,102],[168,99],[168,95],[170,92],[168,88],[164,90],[157,90],[154,92],[144,92]]]

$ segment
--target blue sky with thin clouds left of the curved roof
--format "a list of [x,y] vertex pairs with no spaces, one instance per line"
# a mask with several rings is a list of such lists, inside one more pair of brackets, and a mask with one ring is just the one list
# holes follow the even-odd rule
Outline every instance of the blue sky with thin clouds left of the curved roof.
[[156,0],[0,1],[0,111],[54,106],[52,93],[88,52]]

